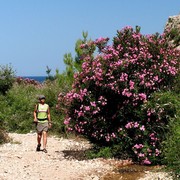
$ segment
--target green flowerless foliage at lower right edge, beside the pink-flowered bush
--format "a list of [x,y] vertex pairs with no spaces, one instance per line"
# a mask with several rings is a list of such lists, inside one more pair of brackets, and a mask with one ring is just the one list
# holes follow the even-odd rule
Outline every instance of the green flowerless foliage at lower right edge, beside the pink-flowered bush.
[[[165,95],[167,97],[168,93]],[[166,168],[173,172],[174,179],[180,178],[180,97],[169,93],[169,102],[167,103],[166,110],[176,109],[176,112],[172,111],[171,115],[175,115],[174,118],[170,118],[168,129],[166,134],[166,140],[163,143],[164,162]],[[169,113],[168,113],[169,114]]]

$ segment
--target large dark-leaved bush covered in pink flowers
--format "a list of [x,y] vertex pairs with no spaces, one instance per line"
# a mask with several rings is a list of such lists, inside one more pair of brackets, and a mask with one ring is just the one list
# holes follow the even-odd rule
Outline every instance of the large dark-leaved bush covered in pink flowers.
[[112,45],[108,40],[81,46],[89,53],[66,95],[64,123],[99,146],[116,147],[117,155],[121,150],[143,164],[158,163],[169,119],[149,102],[154,92],[173,89],[180,54],[166,34],[144,36],[139,27],[118,31]]

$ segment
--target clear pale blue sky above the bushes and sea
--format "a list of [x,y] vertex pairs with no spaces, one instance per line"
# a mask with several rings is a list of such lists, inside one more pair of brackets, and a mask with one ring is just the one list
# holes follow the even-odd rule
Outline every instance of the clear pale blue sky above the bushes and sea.
[[162,33],[180,0],[0,0],[0,65],[17,76],[44,76],[46,66],[65,70],[63,56],[76,41],[116,36],[125,26]]

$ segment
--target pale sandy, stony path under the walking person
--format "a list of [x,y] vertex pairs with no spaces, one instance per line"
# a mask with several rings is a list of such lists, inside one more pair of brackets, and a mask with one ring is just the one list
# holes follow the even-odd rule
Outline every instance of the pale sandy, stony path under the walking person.
[[[0,146],[0,180],[103,180],[117,165],[127,161],[77,160],[66,158],[65,151],[90,147],[87,141],[48,137],[48,153],[36,152],[36,133],[9,134],[10,143]],[[141,180],[165,180],[164,174],[146,173]],[[119,178],[118,178],[119,179]],[[168,180],[171,178],[168,178]]]

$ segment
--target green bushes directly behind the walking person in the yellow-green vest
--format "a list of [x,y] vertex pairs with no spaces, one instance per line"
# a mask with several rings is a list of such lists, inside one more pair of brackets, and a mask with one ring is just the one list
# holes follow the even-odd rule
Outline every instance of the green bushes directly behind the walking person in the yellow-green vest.
[[44,84],[14,83],[13,87],[0,96],[0,119],[8,132],[28,133],[35,130],[33,111],[38,103],[38,96],[44,94],[46,103],[50,106],[53,121],[51,133],[65,133],[63,111],[57,111],[57,97],[59,85],[56,81],[47,81]]

